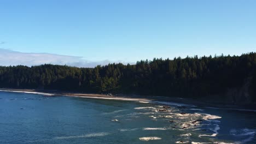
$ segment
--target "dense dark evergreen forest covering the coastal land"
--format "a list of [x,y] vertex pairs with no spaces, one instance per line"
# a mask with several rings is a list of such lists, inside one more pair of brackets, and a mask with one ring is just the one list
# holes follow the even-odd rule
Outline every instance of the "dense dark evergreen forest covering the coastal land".
[[113,63],[95,68],[44,64],[0,67],[0,87],[179,97],[223,94],[246,83],[256,95],[256,53]]

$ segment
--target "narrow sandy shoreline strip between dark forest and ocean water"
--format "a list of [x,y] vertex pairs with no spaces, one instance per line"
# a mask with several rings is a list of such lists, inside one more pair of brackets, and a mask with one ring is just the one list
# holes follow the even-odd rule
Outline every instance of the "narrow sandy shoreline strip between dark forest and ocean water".
[[[253,111],[256,112],[255,106],[245,105],[230,105],[209,103],[199,99],[177,98],[177,97],[161,97],[161,96],[146,96],[146,95],[123,95],[110,96],[106,94],[92,94],[92,93],[75,93],[63,92],[55,90],[38,90],[38,89],[13,89],[13,88],[0,88],[0,92],[16,92],[16,93],[31,93],[45,95],[46,97],[79,97],[79,98],[94,98],[94,99],[109,99],[109,100],[126,100],[138,101],[140,103],[158,103],[163,105],[176,105],[176,106],[200,106],[208,109],[226,109],[238,111]],[[121,96],[122,95],[122,96]]]

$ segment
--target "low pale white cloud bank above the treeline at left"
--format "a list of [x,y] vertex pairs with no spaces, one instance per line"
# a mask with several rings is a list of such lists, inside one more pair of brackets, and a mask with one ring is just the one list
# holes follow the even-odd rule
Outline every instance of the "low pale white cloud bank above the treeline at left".
[[[117,61],[115,63],[119,63]],[[85,60],[83,57],[77,56],[65,56],[56,55],[51,53],[25,53],[18,51],[11,51],[7,49],[0,49],[0,65],[27,65],[31,67],[32,65],[40,64],[59,64],[59,65],[69,65],[74,67],[86,67],[92,68],[96,65],[107,65],[108,63],[113,63],[111,61],[97,61],[92,62]]]

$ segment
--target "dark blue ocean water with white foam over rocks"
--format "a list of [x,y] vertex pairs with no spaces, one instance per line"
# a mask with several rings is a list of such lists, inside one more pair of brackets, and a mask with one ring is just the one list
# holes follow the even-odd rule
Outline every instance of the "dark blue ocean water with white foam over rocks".
[[0,92],[0,143],[256,143],[255,134],[255,111]]

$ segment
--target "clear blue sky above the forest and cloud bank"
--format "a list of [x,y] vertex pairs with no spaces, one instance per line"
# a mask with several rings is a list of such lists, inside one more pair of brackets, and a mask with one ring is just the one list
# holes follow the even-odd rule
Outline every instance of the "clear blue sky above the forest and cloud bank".
[[1,0],[0,49],[86,62],[240,55],[256,51],[256,1]]

